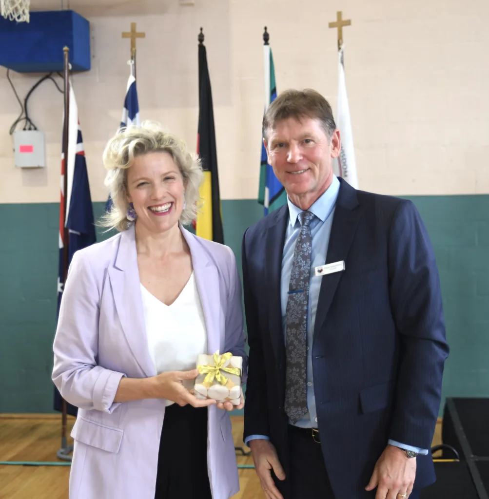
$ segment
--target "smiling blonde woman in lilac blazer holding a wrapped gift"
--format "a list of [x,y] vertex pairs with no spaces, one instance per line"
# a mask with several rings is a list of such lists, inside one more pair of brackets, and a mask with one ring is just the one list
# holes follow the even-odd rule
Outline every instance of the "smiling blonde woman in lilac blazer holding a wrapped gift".
[[203,174],[180,140],[143,123],[103,160],[103,225],[119,234],[73,256],[53,347],[52,379],[79,407],[70,498],[227,499],[239,490],[233,406],[191,387],[199,353],[246,361],[234,255],[181,226]]

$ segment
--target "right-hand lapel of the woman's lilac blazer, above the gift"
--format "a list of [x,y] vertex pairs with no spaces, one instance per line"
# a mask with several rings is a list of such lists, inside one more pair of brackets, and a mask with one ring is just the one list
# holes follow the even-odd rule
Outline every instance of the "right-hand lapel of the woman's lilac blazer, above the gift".
[[225,353],[223,349],[225,347],[226,331],[219,324],[221,302],[219,298],[219,276],[217,268],[207,257],[207,253],[202,248],[199,240],[183,227],[180,227],[180,230],[190,248],[192,256],[195,282],[199,291],[207,331],[207,354],[212,355],[217,350],[223,354]]

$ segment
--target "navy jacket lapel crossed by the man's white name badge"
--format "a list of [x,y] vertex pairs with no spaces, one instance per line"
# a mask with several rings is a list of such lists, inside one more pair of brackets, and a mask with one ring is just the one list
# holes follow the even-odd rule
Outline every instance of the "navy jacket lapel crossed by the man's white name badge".
[[[346,262],[360,217],[356,190],[343,179],[339,180],[341,183],[340,192],[336,201],[325,263],[334,263],[341,260]],[[317,333],[326,319],[343,272],[334,272],[321,277],[314,337],[317,337]]]

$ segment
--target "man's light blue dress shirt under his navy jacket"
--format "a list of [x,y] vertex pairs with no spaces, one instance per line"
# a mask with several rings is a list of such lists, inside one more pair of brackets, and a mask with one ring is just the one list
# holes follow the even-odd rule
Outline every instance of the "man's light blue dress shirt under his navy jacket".
[[[315,215],[311,222],[311,236],[312,236],[312,253],[311,253],[311,270],[309,276],[309,303],[307,311],[307,407],[308,412],[304,417],[296,423],[295,426],[301,428],[317,428],[318,418],[316,414],[316,401],[314,398],[314,378],[312,369],[312,344],[313,344],[313,331],[316,319],[316,310],[318,308],[319,290],[321,287],[321,277],[314,275],[314,268],[324,265],[326,261],[326,254],[328,251],[329,238],[331,234],[331,226],[333,224],[333,216],[335,212],[336,200],[340,191],[340,182],[336,177],[333,177],[333,182],[326,190],[326,192],[309,208],[308,211]],[[294,256],[294,249],[301,225],[298,219],[301,209],[295,206],[289,198],[287,198],[289,207],[289,225],[285,235],[284,250],[282,253],[282,273],[280,284],[280,298],[282,306],[282,326],[284,332],[284,342],[286,341],[286,328],[287,328],[287,298],[289,291],[290,272],[292,270],[292,259]],[[289,420],[289,424],[292,422]],[[246,438],[245,444],[254,439],[267,439],[264,435],[250,435]],[[389,440],[389,444],[402,449],[413,450],[420,454],[428,454],[426,449],[418,449],[409,445],[401,444],[393,440]]]

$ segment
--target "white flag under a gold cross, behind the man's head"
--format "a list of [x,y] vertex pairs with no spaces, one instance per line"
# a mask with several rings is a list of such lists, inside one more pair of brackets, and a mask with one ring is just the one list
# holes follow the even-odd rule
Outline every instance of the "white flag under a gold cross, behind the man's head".
[[343,45],[338,51],[338,113],[336,126],[340,130],[341,152],[334,160],[335,175],[345,179],[352,187],[358,189],[357,164],[355,162],[355,148],[353,147],[352,122],[350,107],[346,93],[345,66],[343,62]]

